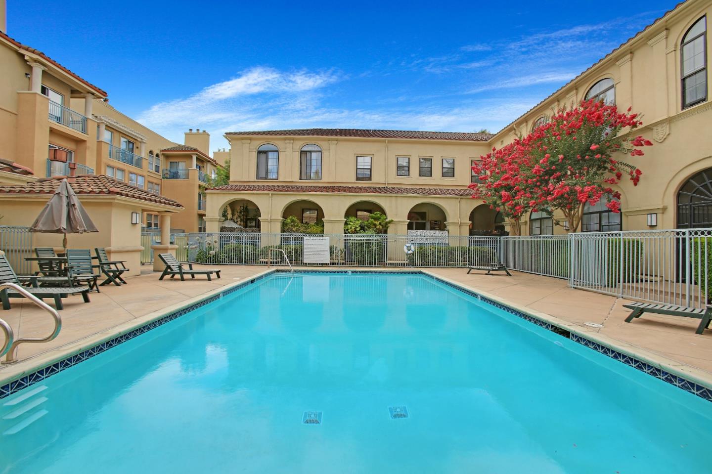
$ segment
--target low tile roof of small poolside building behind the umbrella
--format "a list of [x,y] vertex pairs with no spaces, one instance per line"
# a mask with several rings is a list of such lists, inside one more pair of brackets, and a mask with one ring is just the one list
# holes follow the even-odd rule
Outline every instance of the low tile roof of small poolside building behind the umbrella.
[[[132,199],[140,199],[141,201],[154,202],[156,204],[164,204],[166,206],[174,206],[182,208],[182,204],[173,199],[168,199],[163,196],[157,196],[143,189],[129,186],[121,181],[116,181],[113,178],[100,174],[98,176],[87,175],[68,178],[70,186],[76,194],[96,196],[102,194],[114,194],[117,196],[125,196]],[[2,194],[53,194],[57,190],[57,186],[62,182],[61,179],[48,178],[39,179],[27,184],[7,184],[0,186],[0,195]]]

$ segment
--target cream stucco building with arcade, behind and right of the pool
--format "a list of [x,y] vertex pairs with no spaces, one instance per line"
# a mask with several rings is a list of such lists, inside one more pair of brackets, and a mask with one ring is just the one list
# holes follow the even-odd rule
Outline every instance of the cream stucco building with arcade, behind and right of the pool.
[[[248,206],[251,226],[278,232],[283,218],[323,220],[341,233],[347,216],[384,211],[389,233],[446,229],[451,235],[505,226],[470,199],[471,162],[525,135],[553,110],[597,98],[643,116],[654,147],[626,157],[644,175],[625,181],[621,214],[590,206],[582,231],[712,226],[712,104],[707,21],[712,1],[688,0],[494,135],[399,130],[229,132],[230,184],[209,189],[206,227],[225,206]],[[257,223],[256,223],[257,221]],[[533,214],[523,233],[566,233],[560,216]],[[655,224],[654,226],[649,225]]]

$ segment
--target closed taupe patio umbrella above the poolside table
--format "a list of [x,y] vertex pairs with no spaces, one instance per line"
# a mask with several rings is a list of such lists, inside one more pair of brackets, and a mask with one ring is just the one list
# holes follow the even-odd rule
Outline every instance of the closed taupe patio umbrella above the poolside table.
[[66,249],[68,233],[98,232],[98,229],[79,202],[72,186],[67,179],[63,179],[57,191],[30,226],[30,231],[63,233],[62,246]]

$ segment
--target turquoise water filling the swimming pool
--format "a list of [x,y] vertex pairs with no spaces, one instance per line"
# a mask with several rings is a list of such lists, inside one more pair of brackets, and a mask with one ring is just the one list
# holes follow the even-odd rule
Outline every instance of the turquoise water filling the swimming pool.
[[422,275],[276,275],[0,399],[13,474],[693,474],[710,446],[708,401]]

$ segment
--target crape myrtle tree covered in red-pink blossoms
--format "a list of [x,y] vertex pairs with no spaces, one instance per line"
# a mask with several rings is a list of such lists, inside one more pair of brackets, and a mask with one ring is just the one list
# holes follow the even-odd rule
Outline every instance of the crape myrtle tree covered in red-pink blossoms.
[[[597,204],[605,196],[620,198],[611,185],[624,174],[638,184],[640,169],[614,154],[642,156],[641,148],[652,145],[634,136],[640,125],[639,115],[630,109],[619,112],[615,105],[594,100],[560,110],[526,137],[481,157],[473,171],[482,184],[471,185],[473,197],[502,211],[513,235],[520,235],[520,219],[528,212],[556,209],[575,232],[586,204]],[[609,199],[606,206],[620,212],[616,200]]]

